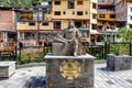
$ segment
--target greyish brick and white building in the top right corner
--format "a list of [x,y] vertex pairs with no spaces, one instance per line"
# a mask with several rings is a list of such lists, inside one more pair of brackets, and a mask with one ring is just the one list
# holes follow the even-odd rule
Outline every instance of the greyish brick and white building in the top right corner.
[[118,28],[132,28],[132,0],[117,0],[116,15]]

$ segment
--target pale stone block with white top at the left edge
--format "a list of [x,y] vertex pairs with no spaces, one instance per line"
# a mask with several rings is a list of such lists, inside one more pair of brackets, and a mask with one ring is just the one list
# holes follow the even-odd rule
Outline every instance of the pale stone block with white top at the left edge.
[[0,62],[0,77],[10,77],[15,72],[15,62]]

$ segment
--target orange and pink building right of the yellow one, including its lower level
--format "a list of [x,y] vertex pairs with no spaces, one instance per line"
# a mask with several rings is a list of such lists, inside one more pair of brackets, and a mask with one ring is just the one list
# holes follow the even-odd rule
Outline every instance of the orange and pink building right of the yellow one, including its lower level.
[[97,42],[113,41],[116,30],[116,4],[114,0],[98,0],[98,31],[100,32]]

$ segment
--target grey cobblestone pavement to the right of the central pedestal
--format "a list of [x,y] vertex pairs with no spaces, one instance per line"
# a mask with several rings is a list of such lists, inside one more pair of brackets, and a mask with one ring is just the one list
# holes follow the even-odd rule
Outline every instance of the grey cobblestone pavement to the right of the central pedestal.
[[95,65],[96,88],[132,88],[132,69],[109,72],[106,64]]

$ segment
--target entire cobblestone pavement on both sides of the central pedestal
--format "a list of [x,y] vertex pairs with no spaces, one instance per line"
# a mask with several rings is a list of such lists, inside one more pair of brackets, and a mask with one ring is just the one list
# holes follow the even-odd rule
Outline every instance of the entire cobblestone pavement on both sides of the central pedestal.
[[[16,69],[0,88],[45,88],[45,66]],[[132,88],[132,70],[109,72],[106,64],[95,65],[95,88]]]

